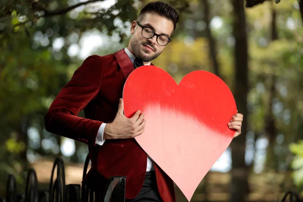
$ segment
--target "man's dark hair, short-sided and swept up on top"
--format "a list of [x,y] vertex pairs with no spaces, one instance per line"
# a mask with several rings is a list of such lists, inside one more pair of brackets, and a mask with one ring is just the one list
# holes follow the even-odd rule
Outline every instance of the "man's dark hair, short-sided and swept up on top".
[[179,21],[179,14],[177,10],[171,5],[165,2],[149,2],[139,13],[138,20],[142,20],[145,13],[155,12],[158,15],[171,20],[174,23],[174,30],[176,29],[176,24]]

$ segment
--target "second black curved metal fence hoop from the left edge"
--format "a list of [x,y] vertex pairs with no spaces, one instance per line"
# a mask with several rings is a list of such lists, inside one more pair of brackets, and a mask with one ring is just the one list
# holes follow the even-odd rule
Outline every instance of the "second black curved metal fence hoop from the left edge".
[[26,187],[25,187],[25,201],[38,201],[38,180],[34,169],[30,169],[27,173]]

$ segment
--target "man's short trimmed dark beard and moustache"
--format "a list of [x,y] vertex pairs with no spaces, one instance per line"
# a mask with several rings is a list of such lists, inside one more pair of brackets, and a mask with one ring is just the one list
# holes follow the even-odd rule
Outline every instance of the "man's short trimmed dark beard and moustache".
[[[134,56],[135,56],[136,58],[140,58],[143,62],[150,62],[150,61],[152,61],[152,60],[155,60],[155,59],[158,58],[158,56],[160,56],[160,54],[162,53],[162,52],[158,53],[158,52],[157,52],[157,49],[156,49],[156,47],[155,47],[155,45],[154,45],[154,44],[151,44],[149,41],[139,43],[139,41],[135,40],[135,39],[132,37],[131,40],[130,40],[130,45],[131,45],[131,48],[132,48],[132,50],[133,50],[133,52],[134,52]],[[146,55],[144,55],[144,54],[142,53],[142,51],[145,52],[146,54],[148,54],[148,53],[150,53],[150,52],[148,52],[147,50],[144,50],[144,49],[142,50],[142,49],[140,48],[141,45],[149,45],[150,47],[152,47],[152,48],[154,49],[154,54],[151,55],[151,56],[146,56]]]

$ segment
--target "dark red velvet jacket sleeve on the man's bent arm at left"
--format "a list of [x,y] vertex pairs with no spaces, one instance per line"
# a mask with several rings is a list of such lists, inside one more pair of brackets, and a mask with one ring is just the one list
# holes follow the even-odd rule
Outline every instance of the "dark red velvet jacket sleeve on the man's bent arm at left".
[[97,96],[102,75],[103,67],[99,57],[88,57],[49,107],[44,118],[45,129],[94,146],[98,129],[103,122],[77,115]]

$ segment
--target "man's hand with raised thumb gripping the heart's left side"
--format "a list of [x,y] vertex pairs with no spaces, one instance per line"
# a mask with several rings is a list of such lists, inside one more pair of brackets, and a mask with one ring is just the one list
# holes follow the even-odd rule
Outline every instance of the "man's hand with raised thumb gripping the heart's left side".
[[103,139],[128,139],[143,133],[145,127],[144,114],[138,110],[131,118],[123,114],[123,99],[119,100],[116,118],[112,123],[106,124]]

